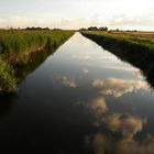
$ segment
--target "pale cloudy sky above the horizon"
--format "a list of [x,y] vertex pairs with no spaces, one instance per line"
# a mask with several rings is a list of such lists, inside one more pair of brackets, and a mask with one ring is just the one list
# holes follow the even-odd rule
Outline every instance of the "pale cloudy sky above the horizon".
[[154,31],[154,0],[0,0],[0,28]]

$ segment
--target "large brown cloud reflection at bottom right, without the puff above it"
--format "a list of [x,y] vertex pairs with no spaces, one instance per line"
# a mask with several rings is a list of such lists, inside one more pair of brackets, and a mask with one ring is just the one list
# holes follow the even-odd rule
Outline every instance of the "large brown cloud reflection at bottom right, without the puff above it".
[[[146,134],[142,142],[135,139],[146,124],[146,120],[135,116],[110,114],[102,117],[108,133],[100,131],[89,139],[95,154],[153,154],[154,136]],[[112,133],[111,133],[112,132]]]

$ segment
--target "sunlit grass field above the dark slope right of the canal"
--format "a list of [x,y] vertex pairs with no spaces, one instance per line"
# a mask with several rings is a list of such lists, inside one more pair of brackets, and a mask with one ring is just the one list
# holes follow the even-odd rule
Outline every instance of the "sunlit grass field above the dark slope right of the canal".
[[100,38],[105,44],[154,51],[154,33],[139,32],[81,32],[84,35]]

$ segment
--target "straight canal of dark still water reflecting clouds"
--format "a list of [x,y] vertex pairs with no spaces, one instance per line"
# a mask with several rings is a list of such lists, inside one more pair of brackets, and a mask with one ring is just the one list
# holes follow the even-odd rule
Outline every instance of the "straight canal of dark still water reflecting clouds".
[[154,153],[154,92],[141,70],[79,33],[0,101],[1,150]]

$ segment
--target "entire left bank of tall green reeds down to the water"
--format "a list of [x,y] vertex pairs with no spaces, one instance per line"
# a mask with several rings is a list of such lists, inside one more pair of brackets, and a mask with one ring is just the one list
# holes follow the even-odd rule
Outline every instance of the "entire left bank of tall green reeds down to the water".
[[0,30],[0,94],[16,91],[28,74],[23,68],[30,64],[32,68],[38,56],[45,59],[73,34],[73,31]]

